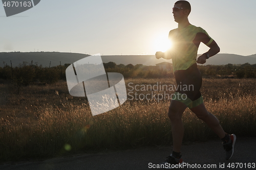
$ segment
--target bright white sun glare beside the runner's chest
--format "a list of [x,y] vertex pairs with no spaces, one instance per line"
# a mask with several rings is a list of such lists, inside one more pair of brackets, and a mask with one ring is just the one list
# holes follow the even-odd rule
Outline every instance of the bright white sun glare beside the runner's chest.
[[172,46],[172,43],[168,39],[168,35],[160,34],[156,36],[154,40],[154,48],[156,52],[165,52]]

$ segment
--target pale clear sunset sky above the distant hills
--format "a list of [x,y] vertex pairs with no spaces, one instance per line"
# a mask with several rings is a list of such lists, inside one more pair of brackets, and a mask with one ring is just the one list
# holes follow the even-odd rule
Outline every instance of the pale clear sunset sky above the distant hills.
[[[154,55],[178,27],[170,0],[41,0],[6,17],[0,6],[0,52]],[[220,53],[256,54],[255,0],[190,0],[189,22],[202,27]],[[166,43],[165,43],[166,42]],[[199,54],[208,51],[201,43]]]

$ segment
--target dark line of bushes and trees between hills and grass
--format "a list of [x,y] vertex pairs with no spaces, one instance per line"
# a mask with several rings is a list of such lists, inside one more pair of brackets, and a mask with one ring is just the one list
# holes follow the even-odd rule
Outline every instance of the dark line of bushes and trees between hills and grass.
[[[12,67],[0,67],[0,79],[8,79],[17,86],[27,86],[33,83],[52,84],[59,80],[66,80],[65,70],[70,64],[54,67],[42,67],[37,64],[23,62]],[[142,64],[116,64],[115,62],[103,63],[106,72],[120,72],[124,78],[172,78],[172,64],[163,69],[160,66],[146,66]],[[232,77],[255,78],[256,64],[226,64],[226,65],[198,65],[203,77]]]

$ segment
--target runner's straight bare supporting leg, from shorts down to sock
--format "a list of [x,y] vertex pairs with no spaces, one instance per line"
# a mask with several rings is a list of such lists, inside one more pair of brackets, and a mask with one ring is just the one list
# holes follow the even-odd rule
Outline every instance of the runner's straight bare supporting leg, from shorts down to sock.
[[182,123],[182,114],[186,109],[186,105],[182,102],[172,100],[170,102],[168,116],[172,123],[172,134],[173,134],[173,151],[180,153],[181,144],[184,134],[184,127]]

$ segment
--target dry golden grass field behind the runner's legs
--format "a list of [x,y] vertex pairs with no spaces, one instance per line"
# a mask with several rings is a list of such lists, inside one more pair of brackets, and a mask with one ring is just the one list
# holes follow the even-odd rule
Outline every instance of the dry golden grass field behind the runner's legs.
[[[131,100],[138,94],[168,94],[170,90],[136,91],[131,86],[174,85],[174,79],[127,79],[130,96],[123,105],[92,116],[85,98],[69,94],[67,83],[23,87],[19,95],[0,84],[0,160],[42,158],[66,153],[169,145],[170,100]],[[129,84],[130,83],[130,84]],[[256,79],[203,79],[206,108],[227,133],[256,136]],[[142,96],[142,95],[141,95]],[[217,138],[188,109],[183,115],[184,141]]]

